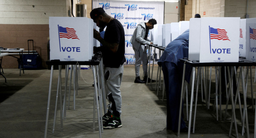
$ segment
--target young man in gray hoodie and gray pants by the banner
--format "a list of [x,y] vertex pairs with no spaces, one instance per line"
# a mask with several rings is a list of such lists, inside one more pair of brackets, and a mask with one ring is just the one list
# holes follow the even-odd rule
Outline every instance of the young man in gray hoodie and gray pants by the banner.
[[[155,19],[150,19],[147,23],[141,22],[135,29],[130,42],[132,43],[132,48],[135,53],[135,81],[134,83],[145,83],[148,78],[148,58],[147,58],[147,48],[145,44],[153,44],[150,42],[148,37],[148,32],[150,29],[154,28],[154,25],[157,24]],[[144,72],[144,79],[140,79],[140,65],[142,61],[142,68]],[[148,78],[150,82],[151,79]],[[155,80],[152,80],[154,82]]]

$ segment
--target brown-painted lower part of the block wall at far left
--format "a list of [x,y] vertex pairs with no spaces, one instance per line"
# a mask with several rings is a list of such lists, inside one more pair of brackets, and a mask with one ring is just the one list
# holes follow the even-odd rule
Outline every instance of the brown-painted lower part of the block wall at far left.
[[[24,48],[28,50],[28,39],[34,40],[34,50],[42,58],[44,67],[47,67],[47,42],[49,37],[49,25],[0,25],[0,46],[6,48]],[[29,44],[32,50],[32,43]],[[19,57],[19,55],[16,55]],[[18,68],[17,59],[11,56],[4,56],[3,68]]]

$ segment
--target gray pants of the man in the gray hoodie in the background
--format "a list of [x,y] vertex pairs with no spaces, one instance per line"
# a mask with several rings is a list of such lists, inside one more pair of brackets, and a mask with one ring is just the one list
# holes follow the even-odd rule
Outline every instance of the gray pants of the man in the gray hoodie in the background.
[[142,61],[142,68],[144,76],[148,75],[148,57],[147,57],[147,48],[144,48],[144,45],[140,47],[139,50],[133,48],[135,54],[135,76],[140,76],[140,65]]

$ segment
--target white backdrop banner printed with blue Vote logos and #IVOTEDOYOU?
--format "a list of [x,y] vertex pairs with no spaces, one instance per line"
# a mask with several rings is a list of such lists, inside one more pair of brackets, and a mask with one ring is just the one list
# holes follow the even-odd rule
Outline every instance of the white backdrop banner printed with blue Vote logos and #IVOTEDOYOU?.
[[[92,0],[92,9],[99,7],[123,25],[125,31],[125,64],[135,64],[134,50],[130,43],[133,32],[139,23],[148,22],[150,19],[156,19],[157,24],[164,24],[164,2]],[[150,33],[151,31],[148,35],[149,39],[151,39]]]

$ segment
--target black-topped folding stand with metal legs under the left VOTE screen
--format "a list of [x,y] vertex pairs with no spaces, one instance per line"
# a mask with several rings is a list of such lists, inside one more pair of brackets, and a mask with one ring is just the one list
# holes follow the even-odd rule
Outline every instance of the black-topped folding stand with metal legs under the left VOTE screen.
[[[56,103],[55,103],[55,113],[54,113],[54,126],[53,126],[53,133],[55,131],[55,122],[56,122],[56,114],[57,114],[57,106],[58,101],[60,101],[60,112],[61,112],[61,131],[63,131],[63,120],[64,117],[66,117],[66,104],[67,104],[67,78],[68,78],[68,66],[67,65],[91,65],[92,71],[93,71],[93,79],[94,84],[94,103],[93,105],[93,112],[95,113],[95,110],[97,109],[97,119],[98,119],[98,127],[99,127],[99,137],[101,138],[101,132],[103,132],[103,123],[102,123],[102,108],[104,109],[104,113],[106,113],[106,100],[105,100],[105,86],[104,86],[104,78],[103,78],[103,63],[102,63],[102,54],[101,52],[95,53],[94,56],[91,57],[88,61],[60,61],[60,60],[48,60],[46,61],[47,65],[51,65],[51,76],[50,76],[50,85],[49,85],[49,96],[48,96],[48,104],[47,104],[47,113],[46,113],[46,125],[45,125],[45,135],[44,137],[47,137],[48,132],[48,120],[49,120],[49,112],[50,112],[50,99],[51,99],[51,92],[52,92],[52,82],[53,82],[53,67],[54,65],[59,66],[59,78],[58,78],[58,88],[57,88],[57,94],[56,94]],[[62,73],[61,73],[61,65],[65,65],[65,90],[64,90],[64,99],[62,99]],[[75,99],[75,91],[77,90],[77,77],[78,77],[78,70],[77,68],[73,67],[73,85],[74,85],[74,95],[73,98]],[[72,78],[72,68],[70,70],[70,78]],[[70,79],[71,80],[71,79]],[[70,82],[71,85],[71,82]],[[77,92],[76,92],[77,93]],[[69,93],[70,96],[70,93]],[[60,99],[59,99],[60,97]],[[70,97],[69,97],[70,98]],[[97,99],[97,100],[96,100]],[[62,102],[64,100],[64,102]],[[69,101],[68,100],[68,108],[69,108]],[[74,110],[75,110],[75,100],[73,100],[74,103]],[[103,103],[103,107],[102,107]],[[93,130],[95,130],[95,114],[93,115]]]

